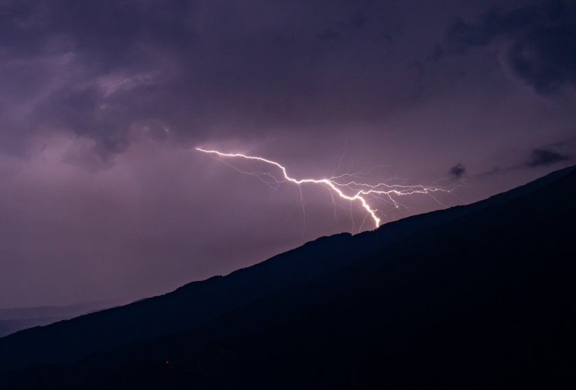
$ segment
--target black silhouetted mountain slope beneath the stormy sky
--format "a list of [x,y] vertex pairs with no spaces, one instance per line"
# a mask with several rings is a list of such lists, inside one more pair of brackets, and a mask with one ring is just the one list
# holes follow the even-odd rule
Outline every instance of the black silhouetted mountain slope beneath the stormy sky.
[[575,191],[565,169],[19,332],[0,339],[0,375],[9,389],[572,388]]

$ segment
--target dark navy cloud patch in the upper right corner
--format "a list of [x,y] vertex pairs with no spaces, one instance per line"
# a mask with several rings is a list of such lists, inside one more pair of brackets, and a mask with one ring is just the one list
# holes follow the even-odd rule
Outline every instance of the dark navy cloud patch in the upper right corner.
[[478,23],[454,23],[448,29],[448,41],[459,53],[501,43],[506,66],[538,93],[576,86],[576,10],[572,3],[546,1],[513,10],[494,9]]

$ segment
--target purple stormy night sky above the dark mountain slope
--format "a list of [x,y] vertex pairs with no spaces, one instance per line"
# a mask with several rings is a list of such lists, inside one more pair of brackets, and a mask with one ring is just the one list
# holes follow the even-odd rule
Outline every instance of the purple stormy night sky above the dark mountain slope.
[[0,0],[0,308],[156,295],[372,228],[197,146],[458,185],[374,204],[387,222],[574,164],[575,87],[571,1]]

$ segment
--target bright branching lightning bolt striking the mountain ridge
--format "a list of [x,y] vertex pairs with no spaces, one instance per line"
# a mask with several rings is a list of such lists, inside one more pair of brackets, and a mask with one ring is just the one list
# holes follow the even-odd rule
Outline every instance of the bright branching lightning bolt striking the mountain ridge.
[[[451,188],[443,188],[437,186],[424,186],[422,184],[418,185],[400,185],[400,184],[387,184],[385,182],[378,183],[378,184],[368,184],[362,182],[356,182],[355,180],[349,182],[341,182],[344,178],[354,177],[355,173],[345,173],[344,175],[333,176],[331,178],[322,178],[322,179],[295,179],[288,175],[286,167],[284,167],[279,162],[273,160],[267,160],[266,158],[259,157],[259,156],[248,156],[245,154],[239,153],[222,153],[221,151],[217,150],[206,150],[200,147],[196,148],[197,151],[202,151],[208,154],[214,154],[219,157],[228,157],[228,158],[243,158],[245,160],[257,160],[264,162],[265,164],[273,165],[280,170],[283,175],[284,180],[287,182],[292,182],[300,186],[300,184],[320,184],[324,185],[331,189],[332,194],[336,194],[342,199],[346,199],[350,202],[357,202],[368,212],[368,215],[374,221],[375,228],[380,226],[381,219],[378,217],[376,208],[373,208],[368,203],[368,197],[387,197],[394,206],[398,207],[398,202],[392,197],[392,195],[396,196],[405,196],[405,195],[414,195],[414,194],[429,194],[442,191],[449,193],[453,191],[454,187]],[[272,177],[274,181],[278,182],[278,179],[272,173],[266,172],[243,172],[242,173],[252,173],[256,174],[259,178],[260,175],[267,175]],[[434,198],[435,199],[435,198]],[[436,200],[436,199],[435,199]]]

